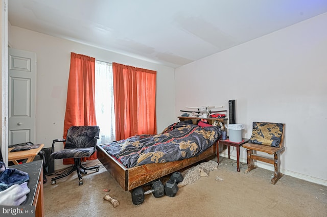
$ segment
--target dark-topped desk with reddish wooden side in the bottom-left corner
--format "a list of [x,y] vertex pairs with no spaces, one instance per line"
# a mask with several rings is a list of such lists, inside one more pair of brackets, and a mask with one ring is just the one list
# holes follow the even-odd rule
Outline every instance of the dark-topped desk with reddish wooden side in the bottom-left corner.
[[44,216],[43,209],[43,160],[36,160],[26,164],[13,165],[9,168],[15,168],[29,174],[30,180],[27,186],[30,193],[27,194],[26,200],[21,204],[35,206],[35,216]]

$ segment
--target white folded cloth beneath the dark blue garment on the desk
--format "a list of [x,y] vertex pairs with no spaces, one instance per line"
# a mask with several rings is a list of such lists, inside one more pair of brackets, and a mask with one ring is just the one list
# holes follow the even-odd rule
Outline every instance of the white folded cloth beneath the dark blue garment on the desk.
[[27,198],[30,193],[30,188],[27,182],[22,184],[14,184],[7,188],[5,191],[0,192],[0,205],[3,206],[19,206]]

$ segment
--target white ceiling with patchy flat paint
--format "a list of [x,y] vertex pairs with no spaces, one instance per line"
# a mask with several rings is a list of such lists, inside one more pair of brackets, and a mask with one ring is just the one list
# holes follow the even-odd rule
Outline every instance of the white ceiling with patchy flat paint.
[[179,67],[327,12],[327,0],[8,0],[11,25]]

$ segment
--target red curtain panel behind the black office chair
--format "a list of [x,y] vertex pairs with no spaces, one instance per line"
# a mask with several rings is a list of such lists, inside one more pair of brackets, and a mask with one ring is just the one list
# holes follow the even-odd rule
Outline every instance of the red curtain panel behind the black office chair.
[[[95,112],[95,58],[71,53],[71,68],[69,70],[66,114],[64,120],[63,138],[71,126],[97,125]],[[97,159],[94,153],[82,160]],[[63,164],[74,164],[74,159],[63,159]]]

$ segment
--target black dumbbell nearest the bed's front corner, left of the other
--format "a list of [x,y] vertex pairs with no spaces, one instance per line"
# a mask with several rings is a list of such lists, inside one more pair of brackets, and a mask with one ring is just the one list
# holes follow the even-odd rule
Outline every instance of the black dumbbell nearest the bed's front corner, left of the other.
[[161,181],[155,181],[152,184],[152,189],[149,191],[144,192],[144,189],[142,186],[136,187],[132,191],[132,201],[133,204],[138,205],[143,203],[144,201],[144,196],[153,194],[154,197],[159,198],[165,195],[165,187],[164,184],[162,184]]

